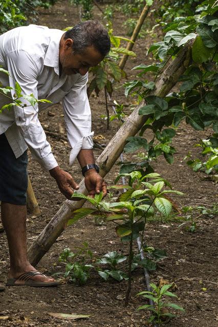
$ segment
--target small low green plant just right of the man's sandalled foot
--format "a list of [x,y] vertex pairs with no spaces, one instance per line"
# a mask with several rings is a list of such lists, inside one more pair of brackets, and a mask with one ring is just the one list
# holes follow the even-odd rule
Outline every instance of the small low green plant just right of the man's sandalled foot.
[[68,279],[71,283],[85,284],[90,276],[90,269],[93,268],[93,265],[87,264],[86,261],[92,259],[92,257],[93,253],[86,242],[75,253],[71,252],[70,248],[65,248],[58,260],[66,265],[64,278]]

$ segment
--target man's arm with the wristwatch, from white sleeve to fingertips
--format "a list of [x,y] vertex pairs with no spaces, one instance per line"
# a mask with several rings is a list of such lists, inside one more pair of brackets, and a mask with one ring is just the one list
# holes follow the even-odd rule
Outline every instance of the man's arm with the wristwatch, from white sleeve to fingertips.
[[[88,74],[78,76],[77,82],[67,96],[63,98],[64,120],[69,143],[72,147],[70,165],[78,159],[81,168],[95,163],[93,156],[93,141],[91,132],[91,110],[86,94]],[[106,183],[95,169],[84,173],[85,186],[90,196],[103,192],[106,195]]]

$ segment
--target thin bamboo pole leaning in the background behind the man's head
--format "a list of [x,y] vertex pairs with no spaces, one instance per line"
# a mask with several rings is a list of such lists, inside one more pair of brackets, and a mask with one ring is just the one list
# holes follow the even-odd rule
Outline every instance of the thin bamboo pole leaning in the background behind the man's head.
[[[133,49],[133,46],[135,44],[135,41],[137,39],[137,36],[142,28],[142,25],[144,23],[144,20],[145,20],[145,17],[147,16],[148,14],[148,11],[149,11],[150,7],[148,5],[145,5],[145,7],[143,8],[142,12],[141,12],[141,15],[137,21],[137,24],[136,24],[136,27],[133,31],[133,35],[131,36],[130,40],[133,41],[134,43],[132,42],[128,42],[127,45],[126,45],[126,50],[132,50]],[[120,60],[120,63],[119,63],[119,67],[121,69],[124,68],[125,64],[126,64],[126,61],[128,59],[128,55],[127,54],[124,54]]]

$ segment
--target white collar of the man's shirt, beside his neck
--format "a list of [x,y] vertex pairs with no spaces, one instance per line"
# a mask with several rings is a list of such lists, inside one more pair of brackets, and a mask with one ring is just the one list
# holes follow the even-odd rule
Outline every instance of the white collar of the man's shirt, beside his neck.
[[44,65],[54,67],[55,73],[59,76],[59,44],[60,39],[65,32],[60,30],[50,31],[52,31],[52,34],[44,59]]

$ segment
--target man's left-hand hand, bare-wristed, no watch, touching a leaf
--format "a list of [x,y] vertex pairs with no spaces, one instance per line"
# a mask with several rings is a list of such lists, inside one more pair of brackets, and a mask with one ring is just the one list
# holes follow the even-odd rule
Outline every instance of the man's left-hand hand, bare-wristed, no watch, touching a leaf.
[[56,179],[60,192],[69,200],[72,200],[74,190],[79,189],[79,185],[74,181],[71,174],[62,170],[59,166],[51,169],[50,175]]

